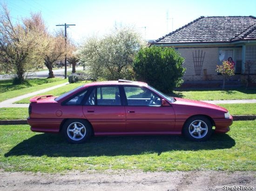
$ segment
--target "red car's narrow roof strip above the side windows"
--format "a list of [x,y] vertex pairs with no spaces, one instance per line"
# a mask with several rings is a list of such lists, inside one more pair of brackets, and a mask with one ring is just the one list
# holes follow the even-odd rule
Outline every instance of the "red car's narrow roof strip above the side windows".
[[84,85],[84,87],[101,86],[101,85],[139,85],[139,86],[148,86],[148,84],[144,83],[144,82],[136,82],[136,81],[128,81],[128,80],[118,80],[118,81],[102,81],[102,82],[87,83],[87,84]]

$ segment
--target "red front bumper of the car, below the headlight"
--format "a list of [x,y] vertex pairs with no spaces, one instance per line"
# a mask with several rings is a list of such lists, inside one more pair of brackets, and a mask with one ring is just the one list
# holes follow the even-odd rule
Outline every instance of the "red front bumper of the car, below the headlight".
[[230,115],[229,118],[213,119],[215,122],[215,133],[224,134],[230,130],[230,126],[233,123],[233,117]]

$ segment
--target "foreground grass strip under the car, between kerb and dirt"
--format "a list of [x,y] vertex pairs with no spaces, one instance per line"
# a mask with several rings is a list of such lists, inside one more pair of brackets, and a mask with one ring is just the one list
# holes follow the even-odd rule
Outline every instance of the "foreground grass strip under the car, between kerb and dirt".
[[0,126],[0,169],[256,171],[256,121],[235,121],[228,134],[206,142],[182,136],[93,137],[68,144],[59,134],[34,133],[28,125]]

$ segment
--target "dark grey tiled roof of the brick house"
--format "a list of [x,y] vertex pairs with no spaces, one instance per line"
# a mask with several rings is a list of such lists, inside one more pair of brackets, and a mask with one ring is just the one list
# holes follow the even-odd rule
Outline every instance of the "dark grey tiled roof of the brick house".
[[215,43],[256,40],[256,17],[199,17],[152,44]]

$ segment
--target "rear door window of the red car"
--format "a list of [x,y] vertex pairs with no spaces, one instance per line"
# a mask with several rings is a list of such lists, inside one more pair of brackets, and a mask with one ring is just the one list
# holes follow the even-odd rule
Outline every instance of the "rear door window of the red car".
[[118,86],[97,87],[93,89],[86,105],[99,105],[99,106],[117,106],[121,105],[120,93]]

